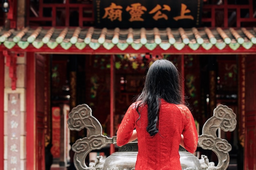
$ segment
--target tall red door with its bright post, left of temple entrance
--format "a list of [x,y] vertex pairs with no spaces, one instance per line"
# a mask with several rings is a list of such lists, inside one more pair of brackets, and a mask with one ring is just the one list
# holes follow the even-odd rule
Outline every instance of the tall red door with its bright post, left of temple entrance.
[[45,58],[27,53],[27,170],[45,170]]

